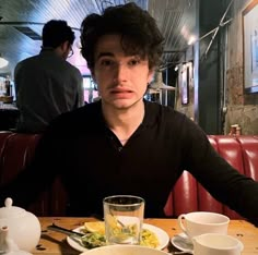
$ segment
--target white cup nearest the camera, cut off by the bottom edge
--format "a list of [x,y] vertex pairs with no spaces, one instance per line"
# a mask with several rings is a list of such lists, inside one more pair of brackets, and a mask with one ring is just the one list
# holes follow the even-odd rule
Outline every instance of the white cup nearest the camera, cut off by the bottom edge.
[[206,233],[192,238],[195,255],[239,255],[243,243],[230,235]]

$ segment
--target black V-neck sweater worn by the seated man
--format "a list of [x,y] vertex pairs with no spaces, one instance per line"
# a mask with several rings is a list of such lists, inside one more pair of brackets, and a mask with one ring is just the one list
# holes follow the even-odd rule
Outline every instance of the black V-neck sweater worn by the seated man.
[[58,117],[43,135],[32,165],[0,190],[26,206],[60,175],[69,216],[103,214],[114,194],[145,199],[145,217],[163,217],[168,193],[187,169],[220,202],[258,223],[258,183],[220,157],[204,132],[184,114],[144,101],[142,124],[122,147],[106,127],[101,101]]

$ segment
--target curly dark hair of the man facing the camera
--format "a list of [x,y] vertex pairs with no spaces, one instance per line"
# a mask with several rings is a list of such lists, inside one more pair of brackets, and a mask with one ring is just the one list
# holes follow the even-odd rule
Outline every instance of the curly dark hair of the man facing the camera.
[[149,68],[161,63],[163,41],[155,20],[136,3],[107,8],[102,15],[93,13],[81,25],[81,53],[91,71],[97,40],[107,34],[121,35],[121,47],[127,56],[139,54],[149,60]]

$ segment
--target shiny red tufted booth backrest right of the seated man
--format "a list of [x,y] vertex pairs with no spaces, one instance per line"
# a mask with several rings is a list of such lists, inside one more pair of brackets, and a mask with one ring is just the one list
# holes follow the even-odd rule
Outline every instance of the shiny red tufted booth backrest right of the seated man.
[[[258,136],[209,135],[214,149],[241,173],[258,181]],[[164,211],[168,217],[177,217],[195,210],[215,211],[231,219],[242,217],[215,201],[204,187],[187,171],[184,171],[171,192]]]

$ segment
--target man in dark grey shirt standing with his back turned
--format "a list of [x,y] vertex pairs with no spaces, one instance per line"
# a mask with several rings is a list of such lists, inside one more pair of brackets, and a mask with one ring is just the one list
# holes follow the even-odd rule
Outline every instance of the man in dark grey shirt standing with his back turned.
[[42,133],[57,116],[84,105],[82,75],[67,61],[75,38],[71,27],[51,20],[42,37],[39,54],[19,62],[14,70],[17,132]]

